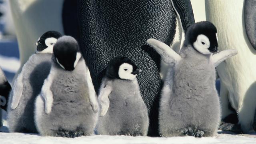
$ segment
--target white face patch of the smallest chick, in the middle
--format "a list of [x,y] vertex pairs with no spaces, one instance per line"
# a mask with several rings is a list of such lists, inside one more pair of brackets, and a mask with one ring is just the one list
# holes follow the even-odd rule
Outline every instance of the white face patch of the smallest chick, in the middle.
[[134,80],[134,78],[136,78],[137,74],[136,75],[131,74],[132,71],[133,71],[132,65],[123,63],[119,67],[118,76],[121,79]]

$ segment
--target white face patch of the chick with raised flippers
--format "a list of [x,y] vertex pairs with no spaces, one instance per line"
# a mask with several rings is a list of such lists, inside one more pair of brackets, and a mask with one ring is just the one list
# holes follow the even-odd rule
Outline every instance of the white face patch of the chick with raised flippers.
[[196,41],[193,43],[193,46],[198,52],[202,54],[212,54],[208,48],[210,47],[210,41],[207,36],[200,34],[197,36]]

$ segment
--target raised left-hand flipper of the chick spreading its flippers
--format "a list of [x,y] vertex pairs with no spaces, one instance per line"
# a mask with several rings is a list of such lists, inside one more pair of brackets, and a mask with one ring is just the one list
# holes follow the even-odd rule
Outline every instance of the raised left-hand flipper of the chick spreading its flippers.
[[147,43],[152,46],[158,54],[160,54],[162,60],[166,64],[175,64],[181,60],[180,55],[172,50],[172,48],[167,44],[153,38],[148,39]]

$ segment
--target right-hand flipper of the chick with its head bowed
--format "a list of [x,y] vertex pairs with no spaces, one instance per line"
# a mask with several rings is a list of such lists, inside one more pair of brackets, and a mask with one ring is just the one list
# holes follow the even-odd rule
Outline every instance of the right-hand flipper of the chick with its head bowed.
[[94,90],[94,86],[92,84],[92,78],[89,69],[87,68],[87,76],[86,76],[86,82],[88,85],[88,93],[89,93],[89,100],[92,106],[92,110],[97,113],[98,112],[98,101],[97,101],[97,95]]

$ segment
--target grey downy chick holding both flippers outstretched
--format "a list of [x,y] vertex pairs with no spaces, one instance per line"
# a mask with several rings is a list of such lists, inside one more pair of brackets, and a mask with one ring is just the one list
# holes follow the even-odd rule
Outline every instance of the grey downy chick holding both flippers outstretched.
[[218,52],[218,38],[210,22],[198,22],[188,29],[180,55],[158,40],[147,43],[170,65],[160,99],[160,135],[214,136],[220,122],[215,67],[237,50],[212,55]]

